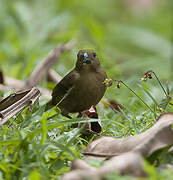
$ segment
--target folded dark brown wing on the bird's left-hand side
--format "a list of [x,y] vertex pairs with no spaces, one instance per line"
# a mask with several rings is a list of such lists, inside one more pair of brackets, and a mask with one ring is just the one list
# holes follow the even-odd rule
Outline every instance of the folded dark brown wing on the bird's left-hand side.
[[68,93],[79,76],[76,70],[72,70],[55,86],[52,92],[53,104],[57,104]]

